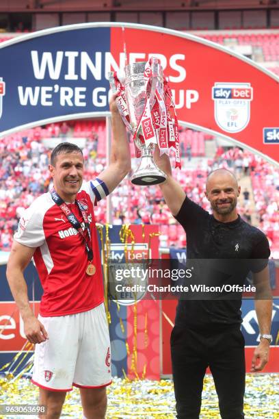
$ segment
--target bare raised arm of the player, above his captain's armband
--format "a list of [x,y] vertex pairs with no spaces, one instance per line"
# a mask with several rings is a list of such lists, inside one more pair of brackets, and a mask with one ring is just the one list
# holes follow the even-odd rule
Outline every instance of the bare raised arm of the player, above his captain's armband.
[[115,96],[111,97],[109,107],[113,134],[111,159],[109,166],[98,175],[98,179],[103,180],[109,192],[112,192],[131,170],[131,153],[126,127],[116,107]]

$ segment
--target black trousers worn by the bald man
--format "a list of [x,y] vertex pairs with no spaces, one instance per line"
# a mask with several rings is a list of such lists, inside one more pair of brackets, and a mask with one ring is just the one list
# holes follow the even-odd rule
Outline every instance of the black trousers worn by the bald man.
[[244,418],[244,338],[239,327],[220,332],[174,326],[170,342],[176,418],[199,418],[207,366],[213,375],[222,419]]

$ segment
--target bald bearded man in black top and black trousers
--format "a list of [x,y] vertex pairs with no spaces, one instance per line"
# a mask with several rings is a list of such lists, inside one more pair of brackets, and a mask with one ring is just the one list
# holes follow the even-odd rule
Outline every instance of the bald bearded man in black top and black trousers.
[[[170,211],[187,233],[187,260],[198,264],[200,279],[209,276],[208,265],[233,264],[233,273],[243,285],[245,273],[254,272],[255,309],[261,337],[254,351],[251,371],[260,371],[268,361],[271,327],[271,291],[268,275],[269,244],[265,235],[245,223],[237,214],[240,187],[228,170],[218,169],[207,178],[205,195],[213,215],[187,198],[173,179],[166,155],[155,153],[157,166],[168,176],[160,185]],[[218,259],[218,261],[217,261]],[[249,268],[242,261],[250,264]],[[243,264],[243,265],[242,265]],[[196,266],[196,265],[195,265]],[[207,266],[207,268],[205,268]],[[240,268],[239,268],[240,266]],[[217,272],[212,270],[211,273]],[[218,275],[214,279],[220,282]],[[230,275],[227,275],[230,277]],[[221,281],[226,283],[226,275]],[[240,331],[241,296],[213,299],[183,299],[178,302],[171,336],[172,372],[176,411],[179,419],[197,419],[200,414],[202,385],[207,367],[211,369],[219,398],[222,419],[240,419],[245,390],[244,338]]]

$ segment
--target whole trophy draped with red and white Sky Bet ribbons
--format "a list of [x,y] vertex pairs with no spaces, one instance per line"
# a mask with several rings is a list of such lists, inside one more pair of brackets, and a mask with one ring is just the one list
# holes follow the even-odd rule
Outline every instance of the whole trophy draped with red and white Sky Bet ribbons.
[[[116,92],[116,105],[122,119],[129,131],[133,134],[136,157],[150,157],[155,145],[159,147],[160,155],[170,151],[175,153],[175,167],[181,168],[179,151],[178,120],[172,91],[168,79],[163,75],[163,69],[157,58],[150,58],[148,62],[136,62],[125,66],[124,83],[120,81],[117,73],[110,73],[110,84]],[[150,167],[157,170],[152,175]],[[165,175],[157,168],[154,162],[146,163],[146,172],[140,168],[140,181],[135,184],[161,183]],[[160,173],[161,175],[160,175]],[[145,183],[144,183],[145,182]]]

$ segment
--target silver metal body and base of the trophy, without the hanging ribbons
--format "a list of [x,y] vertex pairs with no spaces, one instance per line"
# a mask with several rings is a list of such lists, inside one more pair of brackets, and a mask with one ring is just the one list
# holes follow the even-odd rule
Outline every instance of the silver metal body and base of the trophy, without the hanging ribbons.
[[[127,102],[127,110],[129,113],[129,123],[127,118],[124,117],[122,110],[120,114],[124,120],[124,123],[129,128],[134,136],[135,146],[140,151],[140,162],[137,169],[131,177],[131,182],[135,185],[148,186],[163,183],[167,178],[165,173],[160,170],[154,160],[153,153],[157,144],[157,141],[150,142],[146,145],[142,141],[143,135],[142,127],[139,126],[139,122],[142,119],[142,114],[146,107],[146,101],[148,100],[150,110],[155,103],[155,90],[162,82],[162,71],[161,65],[157,60],[152,60],[151,63],[152,76],[150,79],[151,86],[149,86],[148,97],[146,96],[146,81],[144,78],[144,72],[146,71],[146,62],[135,62],[125,66],[125,79],[124,79],[124,97]],[[116,86],[114,84],[114,73],[110,73],[109,81],[114,90]],[[136,133],[136,134],[135,134]]]

